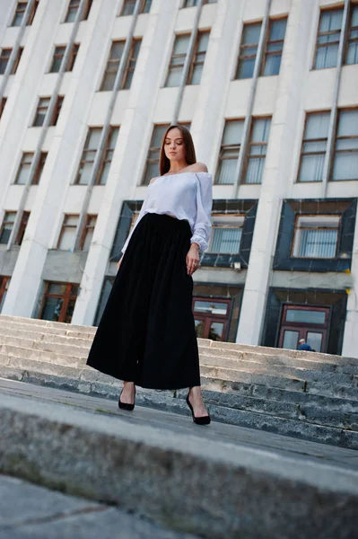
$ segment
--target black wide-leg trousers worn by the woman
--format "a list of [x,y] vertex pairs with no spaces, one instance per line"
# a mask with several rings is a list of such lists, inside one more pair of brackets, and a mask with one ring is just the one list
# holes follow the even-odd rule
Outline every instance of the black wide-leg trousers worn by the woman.
[[147,213],[135,227],[87,365],[152,389],[200,385],[187,220]]

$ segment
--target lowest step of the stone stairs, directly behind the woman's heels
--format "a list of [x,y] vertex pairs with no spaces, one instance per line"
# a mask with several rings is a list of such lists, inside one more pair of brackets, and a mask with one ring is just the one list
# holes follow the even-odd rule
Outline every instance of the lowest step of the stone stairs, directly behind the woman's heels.
[[[21,380],[31,384],[48,385],[58,389],[71,390],[87,393],[93,396],[101,396],[118,400],[119,384],[84,383],[82,380],[66,376],[48,376],[41,372],[27,369],[21,372],[15,367],[0,366],[0,376]],[[173,392],[171,392],[173,393]],[[172,411],[188,414],[188,406],[185,402],[185,394],[178,392],[174,397],[170,392],[153,392],[138,388],[136,402],[138,405],[149,406],[158,410]],[[311,423],[308,420],[293,420],[268,414],[266,412],[247,411],[232,409],[210,402],[210,393],[205,394],[205,402],[212,419],[241,427],[261,429],[290,437],[327,443],[335,446],[344,446],[358,449],[358,432],[342,428],[334,428]],[[303,418],[302,418],[303,419]]]

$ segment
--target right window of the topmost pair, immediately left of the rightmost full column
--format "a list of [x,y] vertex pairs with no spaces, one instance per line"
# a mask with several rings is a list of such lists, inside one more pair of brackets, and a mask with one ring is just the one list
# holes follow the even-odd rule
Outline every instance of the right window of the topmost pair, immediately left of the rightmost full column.
[[286,24],[287,19],[270,21],[268,38],[266,40],[264,51],[262,75],[278,75],[280,73]]

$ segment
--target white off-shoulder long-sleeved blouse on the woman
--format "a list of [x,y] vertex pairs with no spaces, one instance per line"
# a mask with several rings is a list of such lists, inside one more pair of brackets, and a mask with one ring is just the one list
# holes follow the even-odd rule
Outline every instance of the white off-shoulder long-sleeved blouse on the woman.
[[212,232],[213,178],[210,172],[179,172],[163,175],[149,184],[135,225],[122,247],[124,253],[135,226],[146,213],[171,214],[187,219],[192,236],[190,243],[199,245],[199,253],[207,249]]

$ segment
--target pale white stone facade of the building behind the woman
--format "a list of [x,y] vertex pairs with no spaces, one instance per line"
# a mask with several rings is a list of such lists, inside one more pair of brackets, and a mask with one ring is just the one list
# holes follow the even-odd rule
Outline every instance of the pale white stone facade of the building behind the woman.
[[[16,4],[0,0],[2,49],[13,48],[21,32],[10,25]],[[231,214],[230,201],[237,201],[235,208],[241,208],[245,200],[256,203],[249,232],[249,263],[246,267],[241,263],[239,271],[232,266],[242,259],[219,259],[205,253],[195,274],[195,293],[210,296],[208,286],[203,291],[210,284],[215,287],[214,297],[225,297],[228,285],[240,287],[234,340],[267,344],[268,298],[275,290],[321,289],[341,295],[349,289],[343,344],[336,353],[358,357],[356,279],[352,285],[343,270],[275,270],[273,265],[285,200],[354,200],[358,196],[357,180],[327,181],[327,187],[323,181],[297,181],[306,114],[336,106],[336,67],[312,68],[320,9],[344,2],[218,0],[203,5],[197,26],[199,31],[210,30],[210,40],[201,82],[184,85],[182,94],[178,87],[165,87],[170,54],[175,34],[195,28],[199,8],[184,8],[182,0],[153,0],[150,13],[139,14],[132,28],[134,15],[118,16],[122,4],[123,0],[93,0],[88,19],[79,23],[74,37],[81,43],[74,69],[65,73],[58,89],[58,74],[48,71],[54,45],[68,42],[74,31],[74,22],[64,22],[68,1],[40,0],[32,24],[22,33],[22,58],[16,74],[4,85],[7,102],[0,119],[0,222],[9,210],[23,208],[31,215],[20,246],[0,244],[0,276],[11,276],[2,313],[36,316],[45,280],[74,282],[80,285],[80,293],[72,322],[95,323],[102,289],[116,273],[113,243],[124,205],[135,201],[138,206],[145,196],[147,187],[141,183],[153,125],[169,124],[179,104],[178,119],[190,122],[197,160],[206,163],[215,177],[225,120],[246,119],[252,105],[254,118],[271,117],[262,183],[245,184],[239,178],[225,185],[214,178],[213,186],[213,216],[215,212]],[[287,16],[279,75],[258,76],[257,81],[235,79],[243,24],[262,21],[267,6],[270,19]],[[99,90],[111,41],[126,40],[132,31],[135,38],[142,38],[142,45],[131,87],[117,93],[110,117],[110,125],[118,126],[119,133],[108,180],[106,185],[88,189],[74,181],[88,128],[102,127],[108,115],[112,93]],[[0,84],[3,80],[0,75]],[[337,94],[339,109],[358,107],[357,87],[358,64],[344,65]],[[56,90],[65,95],[65,101],[57,125],[46,130],[41,145],[48,158],[39,185],[17,185],[14,179],[22,152],[34,152],[39,145],[41,129],[31,127],[39,96],[50,96]],[[64,214],[80,214],[83,208],[97,215],[90,250],[57,252]],[[356,218],[354,222],[349,263],[353,277],[358,271]],[[128,223],[123,226],[127,228],[120,237],[128,232]]]

